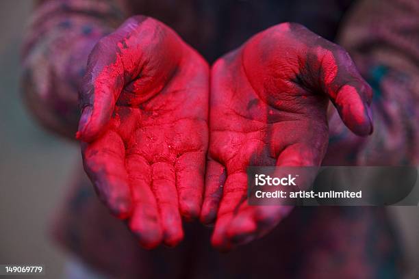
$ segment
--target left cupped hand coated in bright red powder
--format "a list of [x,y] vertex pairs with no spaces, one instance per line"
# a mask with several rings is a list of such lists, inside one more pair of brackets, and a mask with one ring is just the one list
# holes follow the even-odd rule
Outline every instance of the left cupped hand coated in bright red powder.
[[135,16],[90,53],[77,138],[105,205],[141,245],[176,245],[197,217],[207,151],[209,67],[175,31]]

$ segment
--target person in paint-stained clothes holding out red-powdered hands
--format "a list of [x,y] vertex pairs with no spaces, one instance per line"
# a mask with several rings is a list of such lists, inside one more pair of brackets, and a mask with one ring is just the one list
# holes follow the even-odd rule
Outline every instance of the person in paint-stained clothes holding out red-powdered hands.
[[[22,92],[34,120],[72,141],[83,110],[77,135],[92,179],[77,161],[49,226],[82,265],[112,278],[403,277],[385,208],[246,207],[241,173],[293,162],[417,165],[416,1],[36,2]],[[123,30],[136,14],[164,25],[136,16]],[[277,25],[288,21],[314,34]],[[360,137],[369,106],[374,133]],[[200,155],[183,170],[197,174],[178,187],[177,158],[191,150]],[[207,226],[182,222],[194,217]]]

